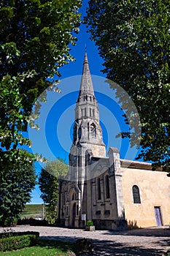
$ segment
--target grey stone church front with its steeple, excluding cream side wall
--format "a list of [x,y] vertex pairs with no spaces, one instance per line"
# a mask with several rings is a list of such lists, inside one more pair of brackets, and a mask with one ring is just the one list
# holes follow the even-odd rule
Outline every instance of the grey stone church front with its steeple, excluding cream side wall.
[[120,153],[110,148],[106,157],[86,52],[74,115],[69,172],[59,179],[59,219],[65,227],[85,227],[86,220],[96,227],[125,227]]

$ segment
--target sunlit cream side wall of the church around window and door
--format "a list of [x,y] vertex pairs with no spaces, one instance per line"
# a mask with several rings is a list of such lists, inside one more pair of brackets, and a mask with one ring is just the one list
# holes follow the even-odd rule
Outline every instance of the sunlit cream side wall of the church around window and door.
[[[165,172],[122,168],[125,219],[136,227],[158,225],[155,208],[160,208],[162,225],[170,222],[170,178]],[[139,187],[141,203],[134,203],[132,187]]]

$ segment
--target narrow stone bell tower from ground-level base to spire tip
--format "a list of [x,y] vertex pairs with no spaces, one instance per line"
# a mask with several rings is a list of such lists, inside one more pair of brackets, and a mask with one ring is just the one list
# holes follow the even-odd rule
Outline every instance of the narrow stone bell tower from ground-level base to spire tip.
[[[69,173],[67,176],[69,182],[66,185],[70,187],[68,191],[74,190],[76,199],[66,203],[70,209],[65,220],[66,226],[83,227],[82,215],[84,214],[89,218],[88,184],[91,179],[92,157],[95,159],[106,157],[106,148],[99,124],[98,105],[93,91],[88,56],[85,52],[80,92],[75,108],[73,142],[69,154]],[[70,193],[68,192],[68,198],[72,198]],[[72,202],[75,203],[76,214],[74,214]]]

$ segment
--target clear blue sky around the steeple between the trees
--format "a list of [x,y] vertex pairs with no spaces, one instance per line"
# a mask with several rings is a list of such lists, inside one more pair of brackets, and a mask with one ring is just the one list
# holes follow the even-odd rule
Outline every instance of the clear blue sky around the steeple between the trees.
[[[80,12],[85,15],[88,1],[82,1]],[[49,92],[47,103],[42,106],[41,115],[38,120],[39,131],[29,129],[29,137],[33,140],[32,151],[42,154],[50,160],[61,157],[68,161],[69,148],[72,146],[72,127],[74,122],[74,108],[80,89],[80,78],[82,63],[85,53],[85,45],[88,53],[90,73],[93,79],[94,90],[98,100],[98,108],[101,117],[101,128],[104,134],[104,143],[107,146],[120,149],[120,157],[134,159],[136,151],[129,147],[128,140],[116,139],[115,135],[121,130],[127,129],[122,117],[120,106],[117,104],[114,92],[105,83],[103,73],[100,71],[102,59],[94,42],[90,41],[90,35],[86,32],[86,26],[81,24],[80,33],[77,35],[77,45],[72,47],[71,54],[76,61],[67,64],[60,69],[61,83],[59,87],[61,94]],[[39,174],[41,165],[36,163],[36,173]],[[39,187],[36,186],[32,192],[31,203],[43,203],[40,198]]]

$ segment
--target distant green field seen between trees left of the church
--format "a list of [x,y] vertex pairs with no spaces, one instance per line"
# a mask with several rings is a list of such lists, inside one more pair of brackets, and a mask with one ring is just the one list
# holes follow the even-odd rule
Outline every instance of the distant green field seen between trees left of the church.
[[44,219],[45,218],[45,206],[43,211],[43,205],[42,204],[28,204],[23,210],[23,213],[21,215],[21,219]]

